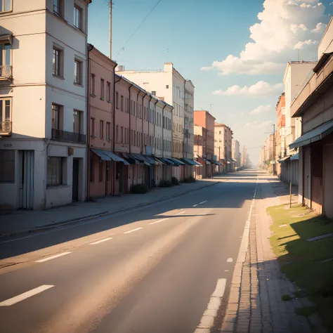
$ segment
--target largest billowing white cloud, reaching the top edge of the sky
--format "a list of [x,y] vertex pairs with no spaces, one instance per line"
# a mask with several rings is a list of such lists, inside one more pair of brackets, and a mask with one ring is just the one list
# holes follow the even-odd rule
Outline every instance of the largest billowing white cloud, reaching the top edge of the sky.
[[265,0],[259,22],[249,28],[250,41],[240,55],[228,55],[202,70],[226,74],[275,74],[298,58],[315,60],[316,44],[329,15],[318,0]]

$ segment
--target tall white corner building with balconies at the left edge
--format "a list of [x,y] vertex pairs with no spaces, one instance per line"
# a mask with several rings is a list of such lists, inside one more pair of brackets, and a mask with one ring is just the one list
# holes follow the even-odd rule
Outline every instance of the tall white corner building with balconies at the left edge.
[[10,5],[0,11],[1,46],[9,50],[8,63],[0,64],[0,99],[8,109],[0,118],[0,207],[83,201],[91,0],[2,2]]

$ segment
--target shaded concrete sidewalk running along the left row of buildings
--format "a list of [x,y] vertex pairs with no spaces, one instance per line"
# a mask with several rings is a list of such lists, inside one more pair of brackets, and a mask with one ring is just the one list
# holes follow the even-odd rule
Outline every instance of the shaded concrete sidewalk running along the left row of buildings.
[[218,183],[216,178],[209,178],[198,180],[195,183],[181,183],[181,185],[171,188],[153,188],[144,195],[129,194],[120,197],[103,197],[93,202],[77,202],[44,211],[0,211],[0,237],[55,228],[55,226],[67,223],[75,223],[88,218],[112,214],[116,211],[148,205],[200,190],[216,183]]

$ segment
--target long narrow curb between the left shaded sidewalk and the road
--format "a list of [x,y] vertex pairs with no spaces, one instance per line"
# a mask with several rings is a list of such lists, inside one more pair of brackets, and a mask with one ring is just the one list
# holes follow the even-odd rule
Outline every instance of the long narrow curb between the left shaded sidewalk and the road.
[[184,191],[184,192],[178,193],[177,195],[169,195],[168,197],[164,197],[162,199],[152,200],[150,202],[146,202],[145,204],[136,204],[136,206],[127,207],[127,208],[123,208],[123,209],[118,209],[117,211],[102,211],[98,214],[91,214],[91,215],[87,215],[87,216],[82,216],[80,218],[72,218],[72,219],[66,220],[66,221],[50,223],[50,224],[47,224],[46,226],[41,226],[41,227],[27,229],[27,230],[20,230],[20,231],[17,231],[15,233],[0,234],[0,241],[3,240],[4,238],[18,236],[18,235],[26,235],[26,234],[29,234],[29,233],[37,233],[37,232],[42,231],[42,230],[54,229],[54,228],[58,228],[59,226],[67,226],[67,225],[70,225],[70,224],[79,223],[79,222],[86,221],[86,220],[96,218],[96,217],[100,217],[100,216],[107,216],[107,215],[111,216],[112,214],[120,213],[122,211],[127,211],[127,210],[130,210],[130,209],[133,209],[133,208],[144,207],[144,206],[148,206],[150,204],[155,204],[157,202],[162,202],[164,200],[170,199],[171,197],[180,197],[181,195],[185,195],[185,194],[190,193],[190,192],[195,192],[197,190],[202,190],[203,188],[208,188],[209,186],[216,185],[217,183],[221,183],[221,182],[216,181],[216,182],[208,184],[208,185],[203,185],[200,188],[195,188],[194,190]]

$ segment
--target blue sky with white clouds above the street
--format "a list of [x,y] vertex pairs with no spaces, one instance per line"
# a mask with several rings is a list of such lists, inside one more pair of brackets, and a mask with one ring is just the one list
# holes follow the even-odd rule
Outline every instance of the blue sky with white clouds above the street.
[[[105,55],[108,2],[89,5],[89,43]],[[143,22],[157,2],[113,1],[112,59],[126,70],[174,63],[195,85],[195,110],[230,126],[256,164],[276,124],[287,62],[318,60],[332,0],[161,0]]]

